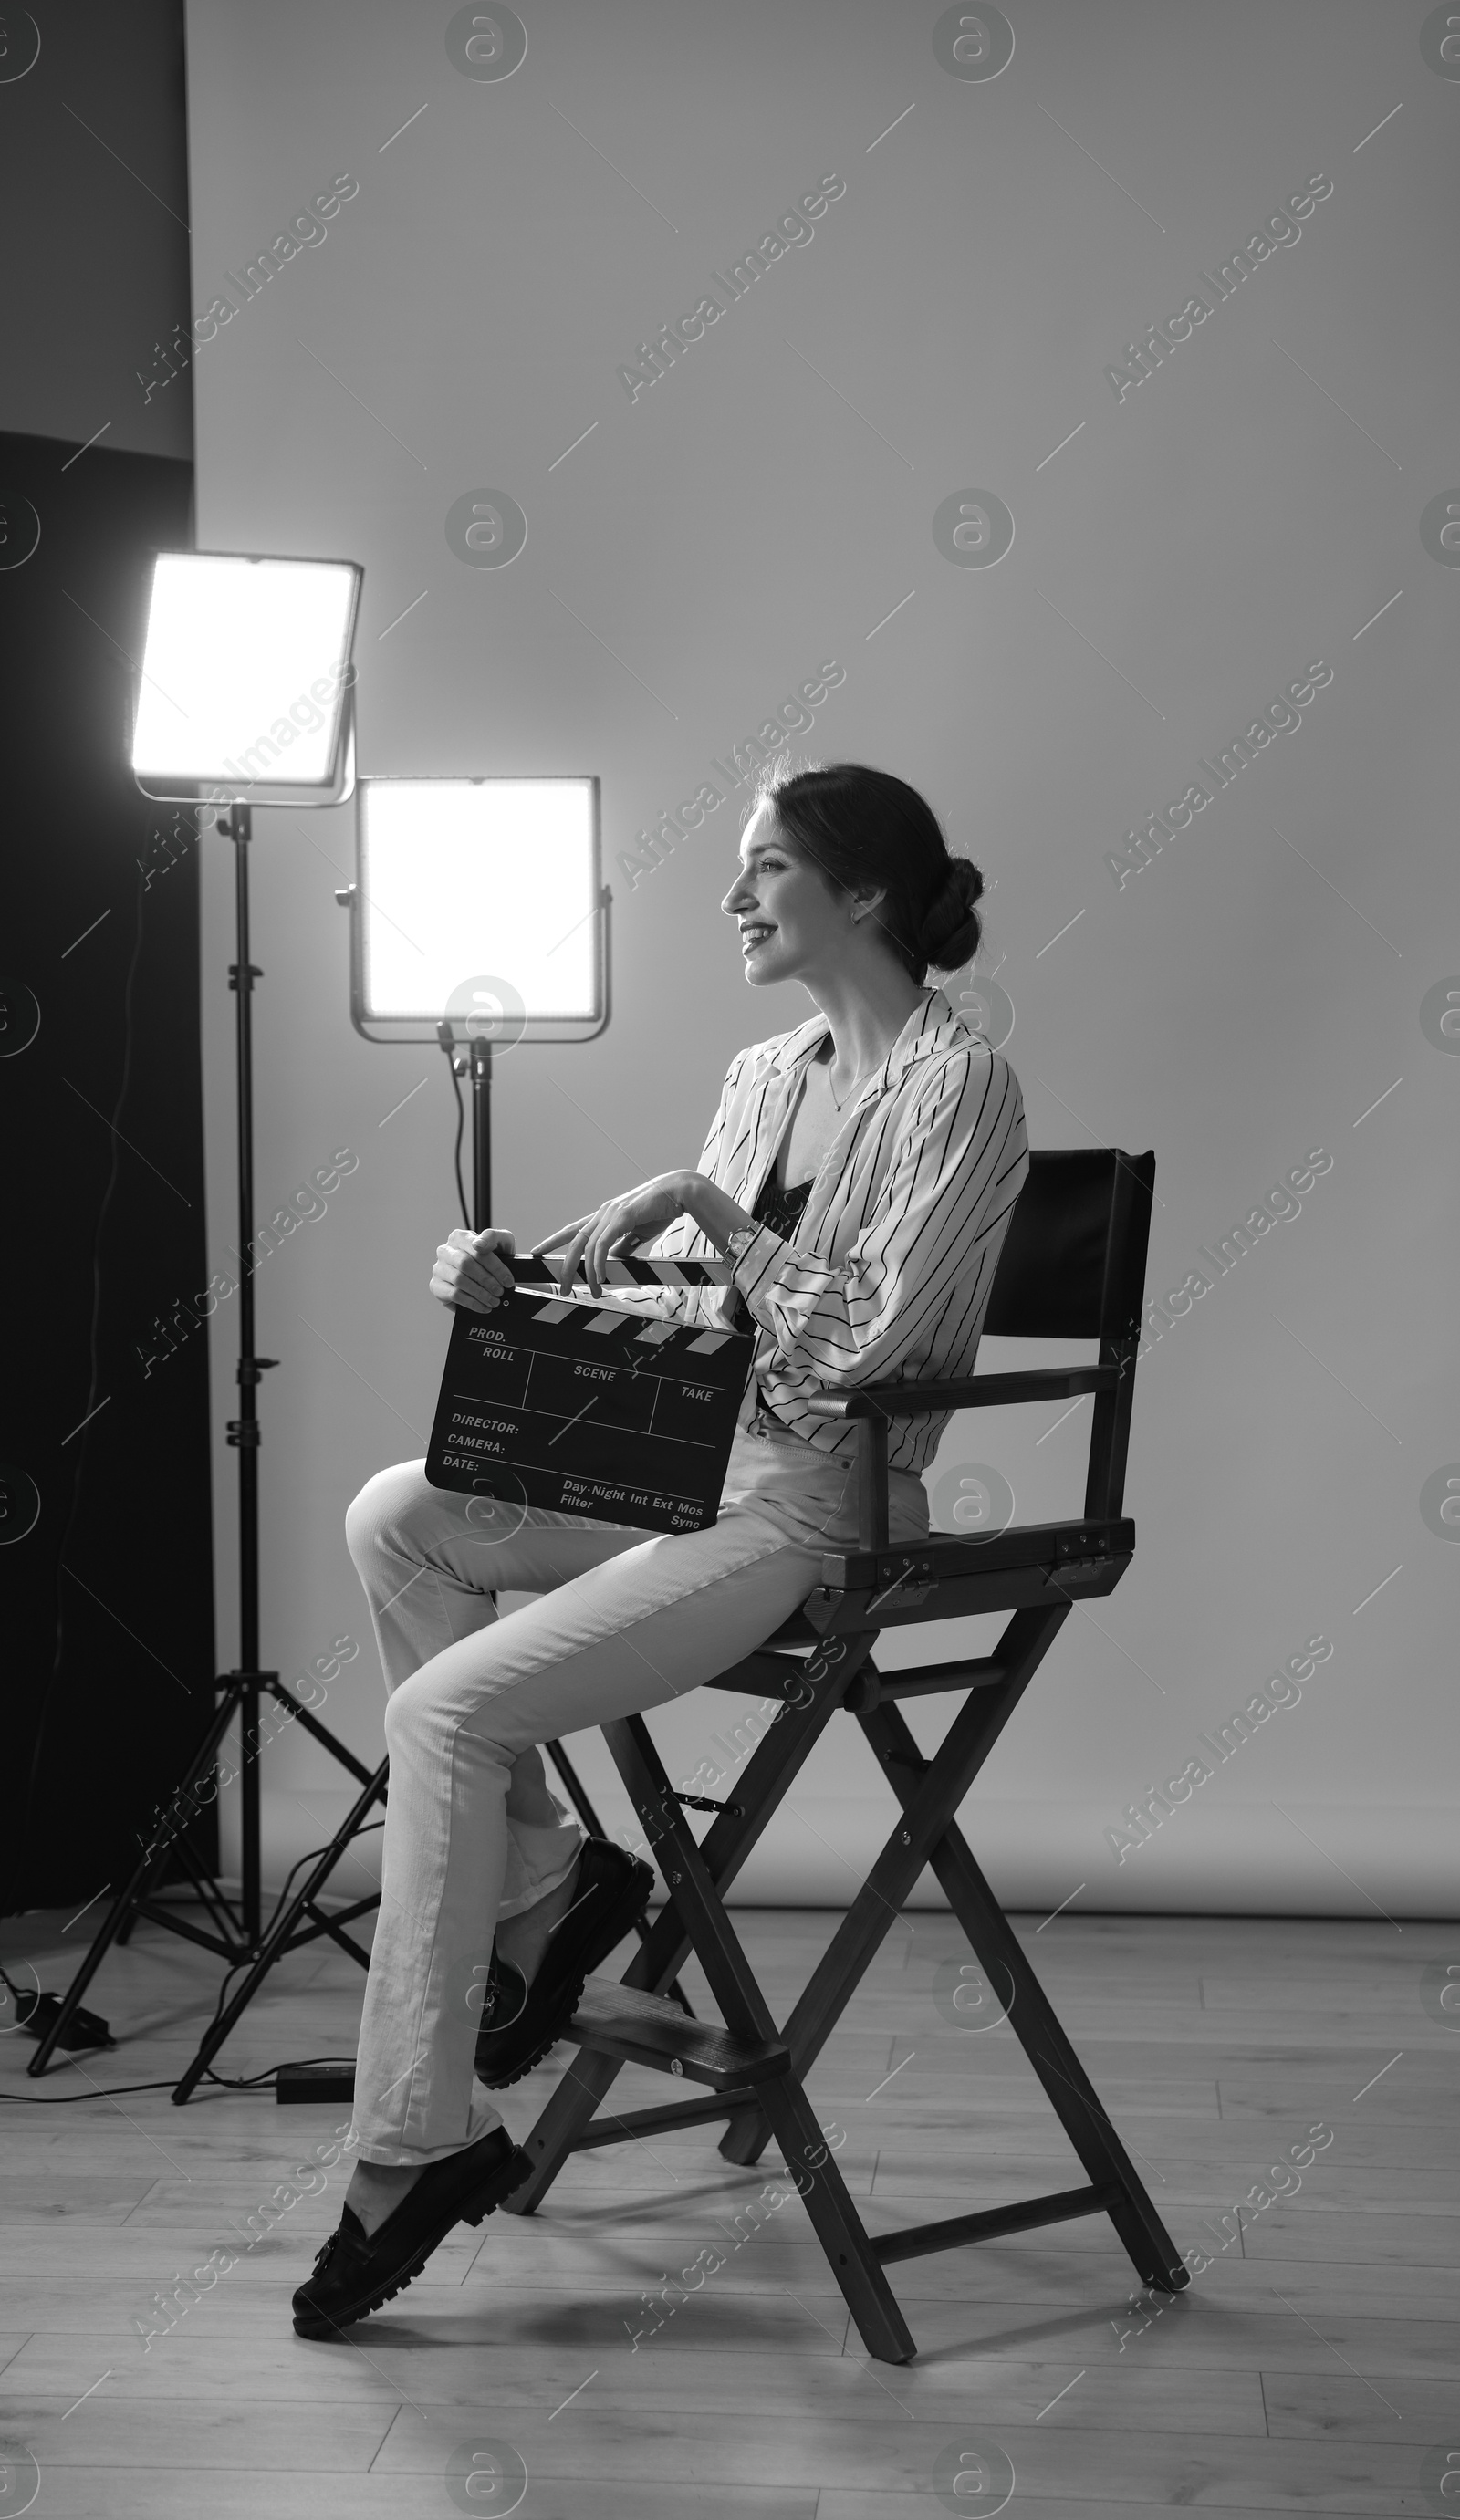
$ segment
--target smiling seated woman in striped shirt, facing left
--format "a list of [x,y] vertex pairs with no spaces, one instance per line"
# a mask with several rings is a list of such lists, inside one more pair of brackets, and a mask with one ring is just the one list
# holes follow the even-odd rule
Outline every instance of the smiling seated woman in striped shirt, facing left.
[[[900,779],[832,764],[767,781],[721,910],[749,985],[799,980],[817,1016],[739,1053],[698,1172],[640,1182],[535,1245],[562,1255],[562,1290],[582,1298],[648,1237],[656,1255],[734,1260],[734,1290],[610,1298],[704,1320],[749,1308],[751,1376],[709,1530],[646,1537],[530,1509],[504,1537],[479,1499],[429,1487],[424,1462],[378,1472],[351,1507],[391,1691],[391,1802],[358,2160],[340,2228],[295,2293],[303,2336],[378,2308],[454,2223],[524,2182],[487,2089],[547,2054],[585,1976],[643,1915],[648,1865],[582,1840],[537,1744],[726,1671],[799,1608],[822,1550],[855,1542],[855,1429],[812,1416],[814,1394],[973,1371],[1029,1172],[1024,1101],[925,970],[971,960],[981,890]],[[431,1293],[489,1313],[512,1290],[512,1252],[504,1230],[459,1230]],[[893,1542],[928,1532],[918,1474],[946,1424],[893,1424]],[[497,1590],[540,1598],[499,1620]]]

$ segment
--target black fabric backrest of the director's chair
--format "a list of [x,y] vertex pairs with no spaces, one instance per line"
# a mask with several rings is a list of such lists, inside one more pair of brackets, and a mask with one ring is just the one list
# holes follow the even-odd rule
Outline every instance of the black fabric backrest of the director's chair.
[[991,1338],[1120,1338],[1140,1328],[1155,1152],[1036,1147],[983,1315]]

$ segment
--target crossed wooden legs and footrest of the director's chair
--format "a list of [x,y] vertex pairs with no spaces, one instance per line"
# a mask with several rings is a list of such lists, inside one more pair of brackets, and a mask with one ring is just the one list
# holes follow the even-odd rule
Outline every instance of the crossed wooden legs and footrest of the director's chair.
[[[885,2276],[885,2268],[900,2258],[920,2258],[943,2248],[966,2248],[973,2240],[996,2240],[1014,2230],[1034,2230],[1044,2223],[1107,2213],[1142,2283],[1167,2293],[1190,2283],[1190,2273],[1099,2107],[1024,1948],[953,1822],[1069,1608],[1064,1600],[1054,1608],[1016,1610],[994,1656],[951,1666],[956,1686],[968,1683],[968,1696],[933,1759],[923,1759],[898,1706],[878,1701],[880,1688],[895,1688],[898,1678],[905,1678],[888,1673],[880,1681],[870,1661],[878,1630],[840,1638],[845,1656],[835,1668],[822,1648],[809,1661],[772,1648],[746,1656],[711,1686],[736,1693],[777,1693],[784,1704],[744,1774],[739,1812],[721,1809],[704,1845],[696,1845],[688,1832],[643,1716],[603,1726],[648,1842],[656,1847],[668,1905],[656,1918],[620,1986],[605,1978],[588,1981],[565,2034],[577,2044],[580,2056],[524,2142],[535,2172],[509,2200],[509,2213],[535,2213],[570,2152],[724,2117],[729,2127],[719,2150],[729,2162],[751,2165],[767,2142],[777,2142],[847,2298],[857,2334],[878,2361],[905,2364],[918,2351]],[[888,1837],[792,2019],[777,2029],[726,1915],[724,1893],[847,1696],[852,1696],[852,1706],[865,1709],[857,1721],[903,1804],[903,1824]],[[1039,2074],[1089,2185],[872,2238],[822,2137],[804,2076],[857,1991],[888,1928],[905,1908],[923,1865],[933,1867],[988,1978],[996,1986],[1011,1986],[1009,2024]],[[666,1998],[666,1988],[691,1950],[724,2013],[724,2029],[714,2021],[686,2019]],[[615,2114],[603,2102],[625,2064],[706,2084],[709,2097]]]

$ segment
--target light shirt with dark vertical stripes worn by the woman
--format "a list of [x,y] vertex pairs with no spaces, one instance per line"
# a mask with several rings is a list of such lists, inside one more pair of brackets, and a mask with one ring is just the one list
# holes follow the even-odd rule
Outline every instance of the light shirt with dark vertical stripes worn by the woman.
[[[782,1144],[804,1068],[827,1036],[812,1016],[731,1061],[698,1159],[746,1215]],[[615,1303],[661,1320],[729,1328],[736,1290],[756,1338],[741,1421],[759,1394],[820,1452],[855,1452],[855,1426],[812,1416],[807,1401],[857,1383],[958,1381],[973,1373],[1009,1215],[1029,1174],[1024,1096],[938,988],[898,1033],[885,1063],[847,1106],[814,1174],[794,1242],[759,1225],[734,1288],[633,1288]],[[693,1217],[676,1217],[648,1257],[714,1260]],[[580,1293],[580,1290],[575,1290]],[[888,1464],[920,1472],[953,1411],[893,1419]]]

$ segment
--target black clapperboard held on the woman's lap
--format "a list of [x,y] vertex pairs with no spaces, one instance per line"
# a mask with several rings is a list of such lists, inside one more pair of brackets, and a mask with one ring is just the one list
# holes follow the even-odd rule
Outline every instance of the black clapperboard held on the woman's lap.
[[[547,1260],[509,1263],[517,1290],[456,1310],[426,1452],[431,1487],[509,1522],[530,1504],[651,1532],[716,1520],[749,1331],[653,1320],[550,1290]],[[729,1285],[724,1260],[610,1260],[605,1285]],[[532,1288],[532,1293],[530,1293]]]

